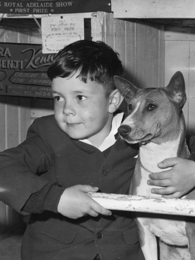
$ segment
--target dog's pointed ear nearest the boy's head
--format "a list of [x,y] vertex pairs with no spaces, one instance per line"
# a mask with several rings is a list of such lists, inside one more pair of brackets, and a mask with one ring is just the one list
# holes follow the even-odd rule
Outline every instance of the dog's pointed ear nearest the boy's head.
[[132,98],[136,94],[138,88],[134,86],[131,82],[128,80],[125,80],[122,77],[114,76],[114,81],[116,84],[117,89],[119,90],[120,94],[124,98]]

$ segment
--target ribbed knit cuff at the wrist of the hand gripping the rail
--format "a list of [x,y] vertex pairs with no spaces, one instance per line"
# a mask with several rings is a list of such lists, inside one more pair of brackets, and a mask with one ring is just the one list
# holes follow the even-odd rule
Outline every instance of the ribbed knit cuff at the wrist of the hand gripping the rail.
[[64,189],[65,188],[57,185],[52,186],[45,196],[43,209],[57,213],[58,203]]

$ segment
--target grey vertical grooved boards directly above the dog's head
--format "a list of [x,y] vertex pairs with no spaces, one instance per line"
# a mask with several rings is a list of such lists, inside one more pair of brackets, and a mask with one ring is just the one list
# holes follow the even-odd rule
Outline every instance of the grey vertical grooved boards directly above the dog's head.
[[164,59],[160,61],[164,56],[163,29],[139,21],[122,21],[125,32],[115,22],[115,43],[119,42],[115,49],[125,65],[127,79],[140,88],[164,86]]

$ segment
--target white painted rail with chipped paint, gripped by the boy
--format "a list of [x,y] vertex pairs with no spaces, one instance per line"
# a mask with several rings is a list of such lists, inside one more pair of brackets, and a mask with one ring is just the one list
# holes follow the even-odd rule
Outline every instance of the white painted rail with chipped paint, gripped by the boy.
[[109,210],[195,216],[195,200],[88,192]]

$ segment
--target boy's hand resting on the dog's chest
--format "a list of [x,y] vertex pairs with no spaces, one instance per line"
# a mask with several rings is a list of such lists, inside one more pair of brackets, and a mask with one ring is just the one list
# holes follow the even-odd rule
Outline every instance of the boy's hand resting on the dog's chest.
[[158,167],[170,170],[149,174],[148,185],[166,188],[152,189],[154,194],[165,198],[180,198],[195,186],[195,162],[179,157],[168,158],[158,163]]

